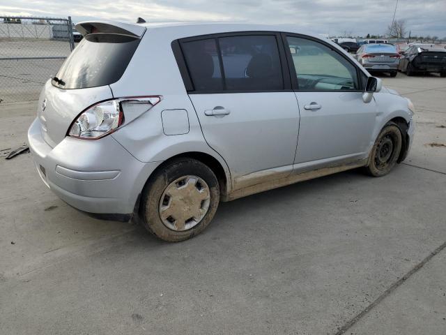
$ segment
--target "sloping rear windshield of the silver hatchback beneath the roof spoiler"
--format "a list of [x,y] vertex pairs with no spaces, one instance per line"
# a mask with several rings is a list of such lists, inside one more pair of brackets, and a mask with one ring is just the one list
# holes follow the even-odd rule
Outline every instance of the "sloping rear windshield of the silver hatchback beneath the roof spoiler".
[[139,38],[113,34],[87,35],[63,63],[52,84],[62,89],[85,89],[117,82],[127,68]]

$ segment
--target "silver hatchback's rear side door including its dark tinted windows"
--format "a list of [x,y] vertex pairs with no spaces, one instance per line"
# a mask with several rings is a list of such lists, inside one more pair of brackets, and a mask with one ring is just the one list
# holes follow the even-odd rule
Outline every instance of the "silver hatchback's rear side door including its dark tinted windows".
[[279,34],[266,32],[180,43],[203,135],[229,165],[235,188],[293,168],[299,109],[280,43]]

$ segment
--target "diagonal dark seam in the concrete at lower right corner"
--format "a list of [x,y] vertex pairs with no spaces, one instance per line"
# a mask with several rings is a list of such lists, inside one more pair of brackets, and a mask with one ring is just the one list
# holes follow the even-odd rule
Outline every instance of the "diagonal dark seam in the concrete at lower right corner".
[[373,308],[378,306],[378,304],[380,304],[381,301],[383,301],[394,290],[396,290],[397,288],[399,288],[399,286],[401,286],[404,282],[406,282],[408,280],[408,278],[410,278],[410,276],[412,276],[417,271],[419,271],[422,267],[424,267],[424,265],[427,262],[429,262],[429,260],[431,260],[433,258],[433,256],[440,253],[440,251],[443,251],[444,248],[446,248],[446,241],[443,242],[443,244],[441,244],[440,246],[438,246],[438,248],[436,248],[434,251],[429,253],[429,255],[427,255],[426,258],[424,258],[421,262],[419,262],[417,265],[415,265],[415,267],[410,269],[410,271],[408,271],[407,274],[405,274],[404,276],[399,278],[398,281],[396,281],[392,285],[390,285],[390,288],[387,288],[387,290],[385,290],[383,293],[381,293],[381,295],[378,298],[376,298],[373,302],[371,302],[371,304],[369,304],[369,306],[364,308],[362,311],[360,311],[360,313],[357,313],[357,315],[355,315],[351,320],[346,322],[346,324],[344,326],[342,326],[341,328],[339,328],[339,330],[334,335],[345,334],[348,331],[348,329],[350,329],[351,327],[353,327],[353,325],[355,325],[356,322],[358,322],[359,320],[364,318],[364,316],[367,313],[369,313],[369,311],[371,311]]

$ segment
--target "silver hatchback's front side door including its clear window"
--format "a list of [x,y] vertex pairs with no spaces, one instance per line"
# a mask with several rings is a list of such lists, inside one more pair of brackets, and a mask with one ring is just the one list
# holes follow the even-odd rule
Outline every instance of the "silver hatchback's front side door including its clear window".
[[[337,49],[315,38],[284,34],[300,106],[295,172],[367,156],[376,103],[362,101],[367,76]],[[316,56],[308,50],[316,48]]]

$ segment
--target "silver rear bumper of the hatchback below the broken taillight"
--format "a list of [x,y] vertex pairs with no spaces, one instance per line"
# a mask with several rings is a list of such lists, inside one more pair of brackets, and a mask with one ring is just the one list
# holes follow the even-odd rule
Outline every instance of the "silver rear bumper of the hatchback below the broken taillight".
[[138,161],[112,136],[93,141],[66,137],[52,148],[40,134],[38,119],[29,128],[28,141],[43,182],[72,207],[92,214],[132,214],[159,165]]

